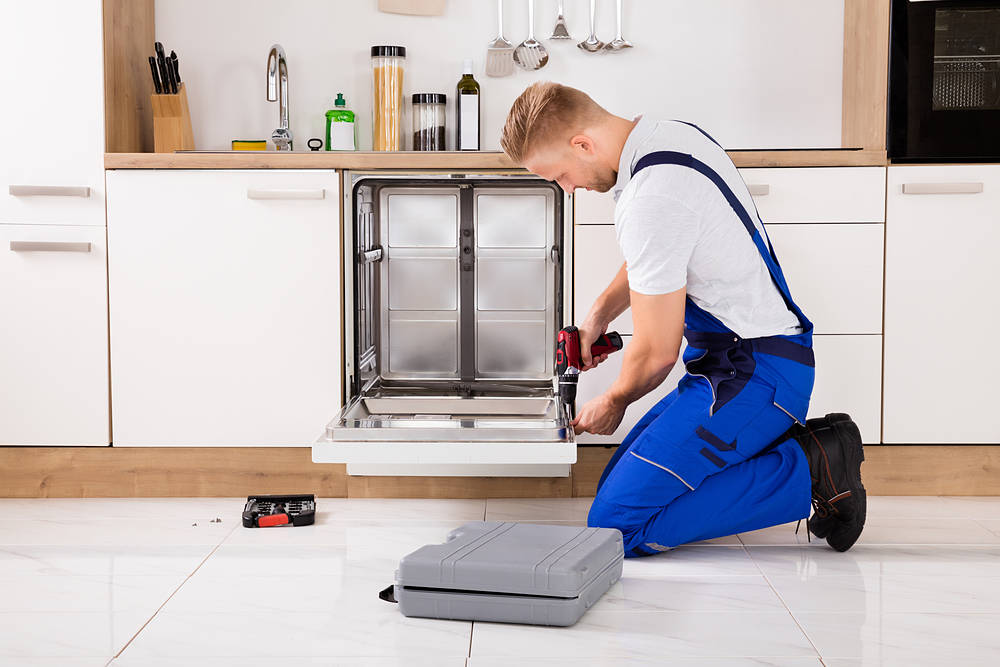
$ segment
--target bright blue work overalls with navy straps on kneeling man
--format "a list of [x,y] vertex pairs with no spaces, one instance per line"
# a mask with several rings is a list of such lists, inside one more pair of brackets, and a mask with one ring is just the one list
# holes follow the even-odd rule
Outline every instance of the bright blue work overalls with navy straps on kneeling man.
[[[707,136],[707,135],[706,135]],[[774,250],[726,181],[685,153],[649,153],[653,165],[698,171],[719,189],[753,239],[802,333],[744,339],[687,299],[687,374],[639,420],[598,482],[588,525],[617,528],[626,556],[795,521],[809,515],[809,466],[793,439],[805,422],[815,362],[812,323],[792,301]]]

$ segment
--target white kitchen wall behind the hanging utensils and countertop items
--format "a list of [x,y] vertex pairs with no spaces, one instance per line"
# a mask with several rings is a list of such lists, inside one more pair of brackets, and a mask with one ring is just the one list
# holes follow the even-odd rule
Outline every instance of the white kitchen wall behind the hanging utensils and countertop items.
[[[527,36],[527,1],[505,2],[504,33],[515,44]],[[537,37],[551,34],[555,6],[536,0]],[[359,114],[359,147],[371,148],[373,44],[407,47],[407,96],[448,94],[449,148],[467,57],[483,89],[484,149],[499,146],[510,104],[539,80],[581,88],[623,116],[694,121],[726,148],[840,145],[843,0],[626,0],[624,35],[635,48],[609,55],[575,46],[588,33],[589,1],[565,7],[574,40],[543,40],[546,67],[502,79],[483,74],[496,36],[494,0],[449,0],[439,17],[383,14],[375,0],[158,0],[156,38],[180,56],[201,149],[270,137],[278,110],[265,99],[265,64],[274,42],[288,56],[298,150],[324,135],[323,114],[338,91]],[[597,34],[614,36],[612,0],[598,0]],[[407,105],[407,127],[409,114]]]

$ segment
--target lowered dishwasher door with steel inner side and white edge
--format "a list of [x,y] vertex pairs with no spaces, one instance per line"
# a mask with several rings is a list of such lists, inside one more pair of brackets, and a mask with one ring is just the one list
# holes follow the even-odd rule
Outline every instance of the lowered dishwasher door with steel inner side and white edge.
[[313,460],[329,463],[574,463],[576,441],[551,389],[379,387],[327,424]]

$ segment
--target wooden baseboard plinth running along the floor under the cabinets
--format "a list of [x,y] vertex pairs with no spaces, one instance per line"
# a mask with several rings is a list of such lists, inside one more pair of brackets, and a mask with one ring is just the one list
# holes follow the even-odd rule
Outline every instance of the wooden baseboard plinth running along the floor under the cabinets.
[[[0,447],[0,497],[498,498],[592,496],[614,448],[581,447],[569,477],[364,477],[308,447]],[[870,445],[871,495],[1000,495],[1000,445]]]

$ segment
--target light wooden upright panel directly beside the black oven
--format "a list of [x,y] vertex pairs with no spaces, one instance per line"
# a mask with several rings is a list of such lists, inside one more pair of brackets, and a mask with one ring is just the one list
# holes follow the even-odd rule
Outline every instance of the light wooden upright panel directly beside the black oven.
[[891,0],[844,0],[841,146],[885,153]]

